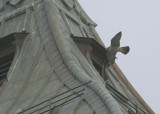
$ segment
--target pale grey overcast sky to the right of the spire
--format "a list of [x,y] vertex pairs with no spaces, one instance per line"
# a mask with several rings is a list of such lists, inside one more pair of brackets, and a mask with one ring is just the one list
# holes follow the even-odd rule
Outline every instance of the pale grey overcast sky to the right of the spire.
[[79,0],[106,47],[122,31],[121,46],[128,55],[118,54],[118,66],[138,93],[160,114],[160,0]]

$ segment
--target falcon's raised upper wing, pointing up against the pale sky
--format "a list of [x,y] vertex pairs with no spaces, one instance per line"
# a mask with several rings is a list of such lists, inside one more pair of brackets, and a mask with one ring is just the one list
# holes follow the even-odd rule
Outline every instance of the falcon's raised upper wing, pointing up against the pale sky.
[[120,46],[120,39],[121,39],[122,33],[117,33],[111,40],[111,46]]

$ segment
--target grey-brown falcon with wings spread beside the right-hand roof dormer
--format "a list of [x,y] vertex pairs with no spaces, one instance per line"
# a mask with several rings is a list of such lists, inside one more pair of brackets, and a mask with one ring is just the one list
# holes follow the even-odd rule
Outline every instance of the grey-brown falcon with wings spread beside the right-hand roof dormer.
[[111,46],[107,48],[107,59],[109,65],[115,62],[117,52],[127,54],[130,50],[129,46],[120,47],[121,36],[122,32],[117,33],[111,40]]

